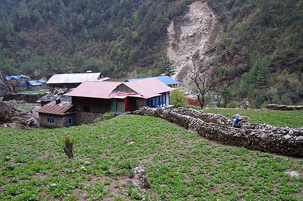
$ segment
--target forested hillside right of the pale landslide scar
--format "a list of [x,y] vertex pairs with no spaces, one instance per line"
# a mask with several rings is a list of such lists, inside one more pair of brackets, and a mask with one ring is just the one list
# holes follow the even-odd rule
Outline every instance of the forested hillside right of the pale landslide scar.
[[215,83],[255,106],[302,104],[303,1],[208,1],[225,26]]

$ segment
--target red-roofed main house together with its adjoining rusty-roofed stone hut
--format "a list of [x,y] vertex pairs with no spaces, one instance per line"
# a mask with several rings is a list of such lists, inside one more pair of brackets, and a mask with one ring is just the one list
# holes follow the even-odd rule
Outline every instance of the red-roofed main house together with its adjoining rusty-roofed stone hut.
[[155,78],[131,82],[84,81],[64,94],[72,102],[56,98],[37,112],[44,127],[93,123],[102,120],[106,112],[123,114],[143,106],[170,108],[170,92],[174,89]]

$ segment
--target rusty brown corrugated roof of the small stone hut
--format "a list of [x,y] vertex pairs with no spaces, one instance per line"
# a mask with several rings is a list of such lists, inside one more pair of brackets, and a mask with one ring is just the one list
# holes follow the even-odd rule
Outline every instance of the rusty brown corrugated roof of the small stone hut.
[[73,112],[68,112],[69,109],[73,107],[71,102],[61,102],[56,104],[56,100],[46,104],[42,108],[40,108],[37,112],[38,113],[47,113],[53,115],[67,115],[72,114]]

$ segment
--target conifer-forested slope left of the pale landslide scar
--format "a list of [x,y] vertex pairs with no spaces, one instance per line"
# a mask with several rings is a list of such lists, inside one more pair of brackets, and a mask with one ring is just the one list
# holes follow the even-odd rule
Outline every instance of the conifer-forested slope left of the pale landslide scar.
[[[124,77],[136,66],[162,72],[169,21],[189,1],[5,0],[0,2],[0,66],[31,77],[102,71]],[[156,59],[155,59],[156,58]]]

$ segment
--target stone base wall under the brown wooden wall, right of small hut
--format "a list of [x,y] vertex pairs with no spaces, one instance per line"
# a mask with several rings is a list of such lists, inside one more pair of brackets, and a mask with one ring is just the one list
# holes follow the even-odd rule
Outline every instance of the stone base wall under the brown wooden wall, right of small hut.
[[102,113],[76,111],[74,117],[74,125],[91,124],[96,121],[102,121],[102,120],[103,120]]

